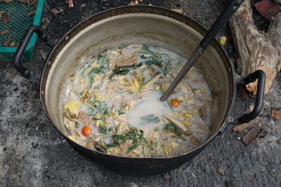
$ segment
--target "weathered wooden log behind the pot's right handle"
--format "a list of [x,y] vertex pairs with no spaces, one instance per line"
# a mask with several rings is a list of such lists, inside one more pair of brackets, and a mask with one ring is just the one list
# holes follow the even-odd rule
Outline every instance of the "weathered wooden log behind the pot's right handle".
[[[230,18],[230,29],[237,52],[237,73],[247,76],[257,69],[266,73],[266,90],[268,94],[271,83],[281,69],[281,13],[271,22],[266,33],[254,25],[250,1],[245,0]],[[256,83],[246,86],[256,95]]]

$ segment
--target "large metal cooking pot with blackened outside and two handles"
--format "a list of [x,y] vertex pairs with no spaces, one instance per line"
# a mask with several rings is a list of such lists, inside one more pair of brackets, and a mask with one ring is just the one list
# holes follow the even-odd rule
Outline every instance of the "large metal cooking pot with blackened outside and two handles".
[[[33,32],[41,34],[38,27],[32,27],[22,39],[14,58],[16,68],[24,76],[28,75],[28,71],[20,64],[20,53]],[[85,148],[65,135],[62,98],[65,95],[65,81],[74,69],[82,67],[106,49],[138,43],[159,46],[188,57],[206,33],[207,30],[194,20],[153,6],[126,6],[93,15],[68,32],[48,57],[40,88],[41,102],[48,118],[81,155],[120,174],[161,174],[185,164],[198,155],[228,123],[247,123],[256,118],[263,107],[263,71],[255,71],[247,78],[238,76],[218,41],[213,40],[196,62],[214,96],[211,134],[204,144],[189,153],[171,158],[125,158]],[[235,101],[237,84],[254,82],[257,78],[259,83],[254,111],[240,118],[231,117],[229,114]]]

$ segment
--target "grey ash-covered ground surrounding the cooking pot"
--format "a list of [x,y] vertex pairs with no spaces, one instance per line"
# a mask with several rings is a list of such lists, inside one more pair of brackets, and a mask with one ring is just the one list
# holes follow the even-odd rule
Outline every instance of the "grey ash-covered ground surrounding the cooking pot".
[[[46,0],[41,26],[55,45],[82,20],[129,2],[74,0],[74,8],[68,8],[65,1]],[[226,2],[143,0],[139,4],[181,8],[209,28]],[[53,15],[53,8],[62,8],[63,12]],[[256,24],[265,30],[269,23],[255,11],[254,15]],[[230,57],[235,57],[228,25],[217,35],[220,36],[228,38],[224,48]],[[270,118],[270,111],[281,106],[281,74],[273,81],[263,111],[252,125],[261,123],[266,130],[253,144],[244,145],[241,139],[246,132],[235,133],[234,125],[227,125],[202,153],[178,169],[157,176],[121,176],[84,159],[46,117],[39,84],[45,64],[42,52],[48,56],[50,51],[50,47],[37,41],[34,60],[24,64],[32,72],[31,81],[22,78],[11,62],[0,63],[0,186],[281,186],[281,144],[277,143],[281,122]],[[243,100],[240,92],[233,110],[237,116],[249,112],[254,104],[248,95]]]

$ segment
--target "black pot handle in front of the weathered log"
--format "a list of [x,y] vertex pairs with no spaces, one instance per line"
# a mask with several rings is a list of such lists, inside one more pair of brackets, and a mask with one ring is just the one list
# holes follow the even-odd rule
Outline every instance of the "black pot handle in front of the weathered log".
[[237,123],[249,123],[251,120],[259,116],[261,110],[263,109],[263,95],[266,86],[266,74],[262,70],[256,70],[249,74],[246,78],[242,78],[237,84],[247,85],[249,83],[254,83],[258,79],[258,87],[256,89],[256,100],[253,111],[250,113],[245,113],[243,116],[238,118]]

